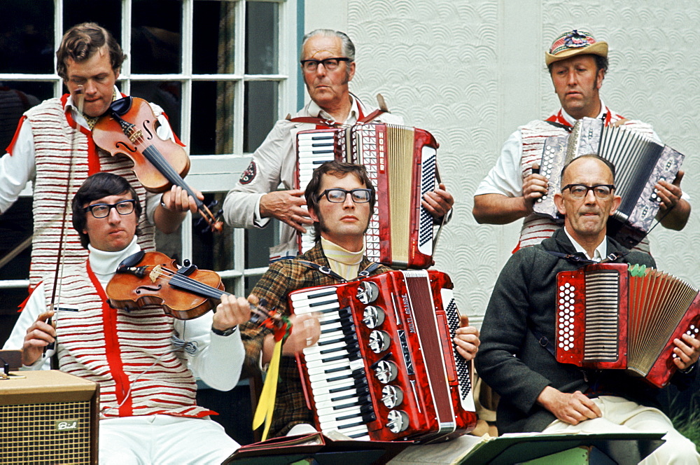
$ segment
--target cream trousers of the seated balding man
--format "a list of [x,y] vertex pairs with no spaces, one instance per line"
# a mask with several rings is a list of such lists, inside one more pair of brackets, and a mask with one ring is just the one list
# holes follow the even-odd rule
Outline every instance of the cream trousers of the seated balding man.
[[653,454],[640,461],[644,465],[700,464],[694,443],[675,431],[671,420],[657,408],[645,407],[617,396],[591,399],[603,413],[602,417],[587,419],[577,425],[554,420],[542,433],[565,431],[570,433],[666,433]]

